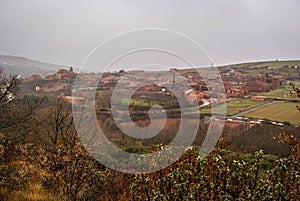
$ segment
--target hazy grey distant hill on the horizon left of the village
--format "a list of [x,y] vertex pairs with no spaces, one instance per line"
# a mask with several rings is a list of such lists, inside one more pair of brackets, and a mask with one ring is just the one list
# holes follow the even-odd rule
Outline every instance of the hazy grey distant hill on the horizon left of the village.
[[6,74],[21,75],[23,78],[29,77],[34,73],[45,76],[56,72],[60,68],[68,68],[66,65],[43,63],[11,55],[0,55],[0,67],[5,68]]

